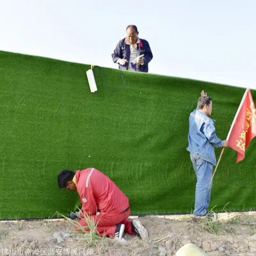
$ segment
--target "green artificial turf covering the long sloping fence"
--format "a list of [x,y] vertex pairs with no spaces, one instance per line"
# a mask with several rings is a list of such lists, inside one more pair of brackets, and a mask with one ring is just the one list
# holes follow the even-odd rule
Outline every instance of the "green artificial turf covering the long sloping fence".
[[[0,218],[68,214],[78,197],[58,188],[57,174],[86,167],[115,181],[132,214],[190,213],[196,178],[186,151],[189,113],[205,90],[225,139],[245,89],[95,67],[98,91],[91,93],[89,68],[0,51]],[[225,149],[210,207],[256,208],[255,148],[253,139],[239,164]]]

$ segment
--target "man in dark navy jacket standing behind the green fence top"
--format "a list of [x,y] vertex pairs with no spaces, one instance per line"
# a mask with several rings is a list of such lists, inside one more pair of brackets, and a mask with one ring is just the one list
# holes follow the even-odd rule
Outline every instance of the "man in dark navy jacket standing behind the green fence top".
[[119,69],[148,72],[148,63],[152,60],[153,54],[148,42],[140,39],[138,35],[135,25],[127,26],[126,37],[118,42],[112,54],[112,59],[119,65]]

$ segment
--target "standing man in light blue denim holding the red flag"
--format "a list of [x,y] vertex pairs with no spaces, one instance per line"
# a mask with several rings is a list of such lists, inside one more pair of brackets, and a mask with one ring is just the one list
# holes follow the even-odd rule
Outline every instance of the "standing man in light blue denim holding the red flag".
[[215,133],[215,120],[210,119],[212,101],[204,91],[198,99],[197,109],[190,113],[188,147],[196,176],[195,216],[207,215],[210,201],[212,168],[216,165],[214,147],[226,147],[228,141]]

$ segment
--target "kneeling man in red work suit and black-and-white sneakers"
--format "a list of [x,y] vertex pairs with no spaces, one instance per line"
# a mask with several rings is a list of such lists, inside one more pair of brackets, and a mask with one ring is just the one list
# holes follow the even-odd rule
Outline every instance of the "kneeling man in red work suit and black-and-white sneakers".
[[[84,212],[97,225],[100,236],[122,239],[123,232],[139,234],[146,240],[148,233],[139,219],[127,220],[130,215],[129,199],[117,185],[95,168],[62,170],[58,177],[59,188],[77,190],[82,203],[78,221],[80,226],[88,226]],[[76,227],[80,230],[79,227]],[[89,231],[88,229],[85,229]]]

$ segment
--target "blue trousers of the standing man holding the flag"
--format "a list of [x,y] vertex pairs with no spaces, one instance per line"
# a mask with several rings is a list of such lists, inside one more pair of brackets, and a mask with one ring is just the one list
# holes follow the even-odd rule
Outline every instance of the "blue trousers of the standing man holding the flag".
[[210,202],[211,176],[213,164],[202,159],[199,154],[190,154],[197,176],[195,216],[203,216]]

